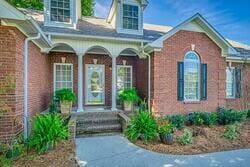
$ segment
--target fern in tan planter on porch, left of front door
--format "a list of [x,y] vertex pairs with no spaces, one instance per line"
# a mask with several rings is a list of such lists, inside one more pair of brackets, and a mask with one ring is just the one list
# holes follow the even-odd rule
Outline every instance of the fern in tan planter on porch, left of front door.
[[60,89],[56,91],[56,98],[60,102],[61,113],[69,114],[72,110],[72,103],[76,100],[72,89]]

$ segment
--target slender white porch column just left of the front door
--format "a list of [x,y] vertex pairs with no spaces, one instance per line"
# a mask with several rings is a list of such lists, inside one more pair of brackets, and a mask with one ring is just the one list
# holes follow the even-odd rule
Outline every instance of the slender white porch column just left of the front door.
[[78,57],[78,109],[77,112],[83,112],[83,54],[77,54]]

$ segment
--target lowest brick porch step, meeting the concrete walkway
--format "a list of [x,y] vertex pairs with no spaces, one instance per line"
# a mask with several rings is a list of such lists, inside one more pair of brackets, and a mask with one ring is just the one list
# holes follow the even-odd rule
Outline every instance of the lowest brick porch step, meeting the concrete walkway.
[[83,134],[96,134],[96,133],[110,133],[110,132],[121,132],[121,124],[108,124],[108,125],[97,125],[97,126],[77,126],[76,135]]

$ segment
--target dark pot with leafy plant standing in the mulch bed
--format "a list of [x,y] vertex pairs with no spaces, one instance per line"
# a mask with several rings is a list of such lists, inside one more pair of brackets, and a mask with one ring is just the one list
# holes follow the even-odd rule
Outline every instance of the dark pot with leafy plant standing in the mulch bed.
[[173,144],[174,126],[171,123],[162,123],[158,126],[158,133],[162,143]]

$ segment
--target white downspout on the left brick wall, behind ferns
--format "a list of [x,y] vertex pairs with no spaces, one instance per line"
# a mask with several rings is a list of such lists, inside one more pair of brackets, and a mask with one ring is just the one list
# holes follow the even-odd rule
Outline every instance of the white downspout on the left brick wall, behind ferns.
[[36,40],[41,38],[41,34],[38,33],[37,36],[28,37],[24,42],[24,140],[28,139],[28,124],[29,124],[29,115],[28,115],[28,57],[29,57],[29,41]]

